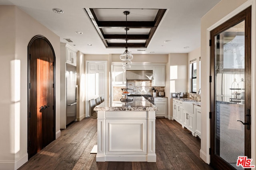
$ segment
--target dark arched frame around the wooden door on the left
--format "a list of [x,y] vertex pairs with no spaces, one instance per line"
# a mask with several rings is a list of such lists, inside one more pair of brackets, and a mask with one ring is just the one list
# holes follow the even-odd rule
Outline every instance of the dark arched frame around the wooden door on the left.
[[[52,47],[52,44],[50,43],[50,41],[44,37],[43,35],[36,35],[34,36],[30,42],[28,43],[28,113],[27,113],[27,119],[28,119],[28,145],[27,145],[27,152],[28,152],[28,159],[31,158],[29,149],[30,149],[30,132],[29,132],[29,128],[30,128],[30,47],[32,45],[32,43],[36,40],[36,39],[43,39],[44,41],[46,41],[48,43],[48,45],[50,46],[50,48],[52,49],[52,53],[54,55],[54,133],[56,132],[56,56],[55,56],[55,52],[54,49]],[[54,139],[56,139],[56,135],[54,135]]]

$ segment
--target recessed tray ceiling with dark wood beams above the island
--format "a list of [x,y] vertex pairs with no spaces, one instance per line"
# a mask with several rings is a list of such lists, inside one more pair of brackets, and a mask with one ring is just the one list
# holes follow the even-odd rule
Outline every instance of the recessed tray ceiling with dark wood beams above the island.
[[124,48],[126,38],[127,47],[148,47],[166,12],[166,9],[85,8],[85,10],[106,48]]

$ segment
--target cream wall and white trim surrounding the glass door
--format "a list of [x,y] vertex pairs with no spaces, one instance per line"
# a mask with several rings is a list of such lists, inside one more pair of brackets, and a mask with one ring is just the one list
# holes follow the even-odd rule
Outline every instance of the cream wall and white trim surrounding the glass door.
[[[240,7],[246,3],[245,6]],[[252,8],[252,94],[255,94],[255,30],[256,30],[256,5],[255,0],[222,0],[212,10],[210,10],[201,19],[201,111],[202,111],[202,139],[201,139],[201,150],[200,157],[207,163],[210,163],[209,147],[210,147],[210,48],[209,48],[209,37],[210,31],[228,20],[232,16],[235,16],[239,11],[245,9],[248,5],[253,3]],[[240,7],[240,8],[238,8]],[[236,10],[238,8],[238,10]],[[234,12],[233,12],[234,11]],[[252,113],[255,113],[255,95],[252,95]],[[255,154],[255,136],[256,136],[256,116],[252,114],[252,159],[256,159]]]

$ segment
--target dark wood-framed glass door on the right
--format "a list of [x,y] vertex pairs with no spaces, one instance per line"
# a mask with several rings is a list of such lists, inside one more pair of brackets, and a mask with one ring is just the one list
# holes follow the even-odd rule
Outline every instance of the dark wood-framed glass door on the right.
[[211,165],[250,158],[250,8],[211,31]]

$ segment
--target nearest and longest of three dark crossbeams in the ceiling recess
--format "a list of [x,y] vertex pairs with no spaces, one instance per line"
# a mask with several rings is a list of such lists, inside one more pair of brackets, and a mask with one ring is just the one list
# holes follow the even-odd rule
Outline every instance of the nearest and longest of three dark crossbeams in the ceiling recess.
[[[100,28],[126,28],[126,21],[97,21]],[[128,28],[152,28],[155,21],[127,21]]]

